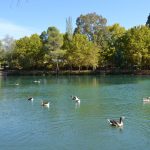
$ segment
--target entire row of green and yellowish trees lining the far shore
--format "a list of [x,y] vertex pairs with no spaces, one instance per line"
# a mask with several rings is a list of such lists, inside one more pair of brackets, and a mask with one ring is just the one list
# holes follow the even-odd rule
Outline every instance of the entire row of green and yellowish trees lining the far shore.
[[66,19],[64,34],[48,27],[18,40],[7,36],[0,41],[0,63],[23,70],[150,69],[150,15],[145,25],[128,30],[89,13],[76,19],[74,30]]

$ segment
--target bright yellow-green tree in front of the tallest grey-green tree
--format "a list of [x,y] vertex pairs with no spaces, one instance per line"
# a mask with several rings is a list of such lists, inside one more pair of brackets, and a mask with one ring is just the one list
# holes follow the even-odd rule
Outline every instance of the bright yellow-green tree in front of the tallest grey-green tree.
[[98,66],[99,49],[97,46],[88,41],[87,37],[82,34],[75,34],[72,39],[70,49],[67,50],[67,63],[79,68]]

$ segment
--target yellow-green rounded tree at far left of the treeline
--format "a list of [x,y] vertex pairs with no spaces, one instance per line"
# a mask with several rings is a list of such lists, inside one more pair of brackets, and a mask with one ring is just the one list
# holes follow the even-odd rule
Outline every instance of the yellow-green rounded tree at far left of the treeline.
[[33,69],[41,65],[41,39],[37,34],[23,37],[16,41],[10,64],[12,68]]

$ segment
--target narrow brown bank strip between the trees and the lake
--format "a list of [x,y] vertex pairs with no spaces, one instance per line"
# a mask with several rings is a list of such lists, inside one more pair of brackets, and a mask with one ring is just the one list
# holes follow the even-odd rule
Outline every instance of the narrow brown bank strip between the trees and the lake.
[[150,70],[65,70],[65,71],[47,71],[47,70],[5,70],[0,71],[1,76],[17,76],[17,75],[34,75],[34,76],[46,76],[46,75],[150,75]]

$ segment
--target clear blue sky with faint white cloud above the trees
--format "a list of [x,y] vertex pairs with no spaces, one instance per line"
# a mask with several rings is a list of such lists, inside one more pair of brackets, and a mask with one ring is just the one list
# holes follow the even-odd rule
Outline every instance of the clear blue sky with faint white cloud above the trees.
[[81,14],[93,12],[106,18],[107,25],[130,29],[146,23],[150,0],[1,0],[0,39],[41,34],[52,26],[65,33],[67,18],[75,28]]

